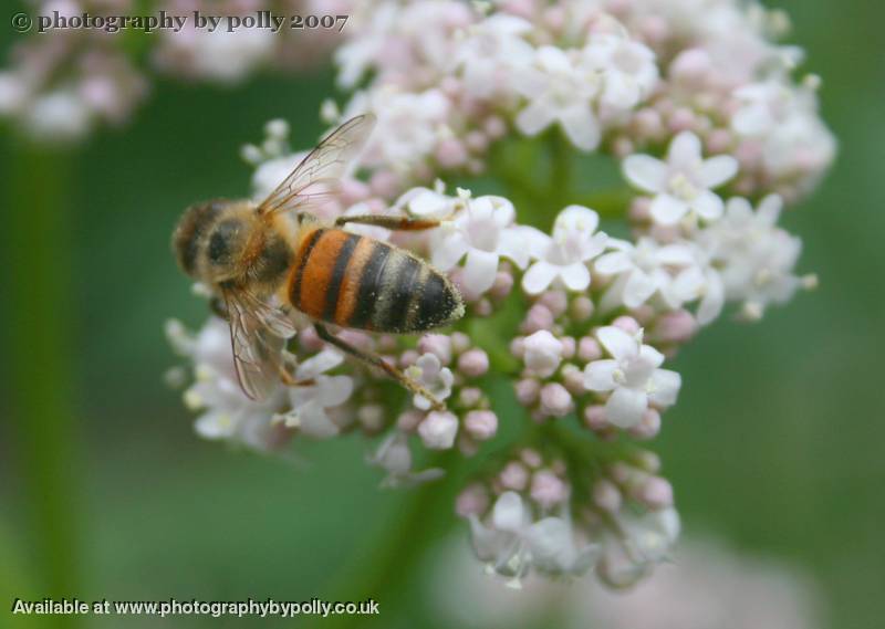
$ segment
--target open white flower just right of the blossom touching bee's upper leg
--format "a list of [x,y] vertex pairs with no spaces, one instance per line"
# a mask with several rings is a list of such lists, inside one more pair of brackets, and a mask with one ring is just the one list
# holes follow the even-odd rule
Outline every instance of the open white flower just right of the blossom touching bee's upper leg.
[[569,206],[553,227],[553,238],[532,229],[532,258],[537,260],[522,276],[522,287],[530,295],[544,292],[554,282],[562,282],[570,291],[585,291],[590,286],[586,263],[605,249],[608,237],[593,233],[600,217],[591,209]]

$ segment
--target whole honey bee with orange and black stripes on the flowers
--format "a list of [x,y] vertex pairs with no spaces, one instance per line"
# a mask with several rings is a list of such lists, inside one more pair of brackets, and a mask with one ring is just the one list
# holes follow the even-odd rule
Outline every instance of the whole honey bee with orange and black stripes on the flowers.
[[283,349],[295,334],[293,311],[320,338],[378,367],[444,409],[425,387],[379,356],[354,347],[325,324],[379,333],[420,333],[464,316],[458,290],[427,261],[387,242],[345,231],[346,223],[392,230],[439,224],[395,216],[322,221],[313,212],[340,191],[375,117],[352,118],[332,132],[260,203],[215,199],[189,207],[173,234],[181,270],[208,286],[230,324],[240,387],[261,400],[282,380],[295,381]]

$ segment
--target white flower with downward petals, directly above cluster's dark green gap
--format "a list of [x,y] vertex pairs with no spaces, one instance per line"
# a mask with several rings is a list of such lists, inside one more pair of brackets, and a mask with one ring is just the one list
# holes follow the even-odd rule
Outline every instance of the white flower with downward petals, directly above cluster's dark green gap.
[[[575,51],[576,53],[576,51]],[[593,150],[600,144],[600,124],[593,102],[600,93],[600,73],[554,46],[542,46],[535,62],[517,76],[514,87],[529,99],[517,115],[517,127],[538,135],[553,123],[577,148]]]

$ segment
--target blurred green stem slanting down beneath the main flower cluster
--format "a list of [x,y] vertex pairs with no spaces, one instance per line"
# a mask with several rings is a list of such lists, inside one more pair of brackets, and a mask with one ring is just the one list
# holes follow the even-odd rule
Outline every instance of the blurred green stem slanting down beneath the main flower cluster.
[[416,568],[428,548],[442,539],[455,522],[455,493],[461,480],[456,473],[459,457],[457,449],[451,449],[428,461],[428,468],[442,468],[446,475],[405,490],[395,515],[382,523],[374,542],[366,545],[371,551],[357,555],[339,586],[332,588],[329,600],[363,602],[372,598],[378,602],[381,614],[331,616],[323,622],[324,628],[392,622],[392,611],[400,609],[400,599],[414,591],[409,588],[418,581]]

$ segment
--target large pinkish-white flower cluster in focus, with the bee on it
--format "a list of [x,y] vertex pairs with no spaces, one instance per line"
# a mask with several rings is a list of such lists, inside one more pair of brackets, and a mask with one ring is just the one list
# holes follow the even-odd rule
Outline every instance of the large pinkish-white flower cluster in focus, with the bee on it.
[[[358,431],[377,439],[368,461],[387,485],[440,479],[454,458],[439,451],[477,457],[457,512],[491,572],[513,584],[594,572],[611,587],[649,574],[679,518],[659,461],[635,442],[658,434],[680,395],[671,360],[722,313],[757,319],[815,283],[796,274],[801,243],[778,219],[834,143],[815,113],[816,80],[795,84],[798,51],[771,40],[782,21],[731,0],[355,9],[335,52],[351,97],[343,114],[331,102],[322,114],[371,111],[378,123],[358,176],[317,213],[436,221],[346,229],[430,261],[466,315],[417,339],[339,334],[446,410],[310,327],[285,356],[309,384],[248,402],[231,390],[230,357],[204,347],[214,319],[196,338],[171,328],[195,364],[185,399],[204,409],[200,433],[270,449]],[[534,157],[548,148],[539,185]],[[617,189],[587,196],[584,170],[575,184],[583,166],[571,157],[587,153],[616,161]],[[254,198],[303,155],[285,123],[269,123],[243,149]]]

